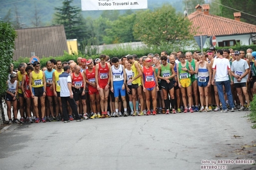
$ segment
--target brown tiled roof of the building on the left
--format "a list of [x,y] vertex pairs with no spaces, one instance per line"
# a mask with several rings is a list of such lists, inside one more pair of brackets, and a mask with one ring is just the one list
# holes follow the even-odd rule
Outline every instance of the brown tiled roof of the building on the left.
[[31,57],[35,52],[38,58],[62,56],[67,49],[64,26],[34,27],[17,29],[13,59]]

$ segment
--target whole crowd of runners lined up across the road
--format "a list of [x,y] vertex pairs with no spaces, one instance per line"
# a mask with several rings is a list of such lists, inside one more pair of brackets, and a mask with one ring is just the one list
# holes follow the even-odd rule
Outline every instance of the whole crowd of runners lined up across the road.
[[202,53],[162,51],[141,58],[50,59],[43,68],[35,61],[21,63],[17,73],[11,65],[8,123],[250,110],[255,57],[252,49],[210,47]]

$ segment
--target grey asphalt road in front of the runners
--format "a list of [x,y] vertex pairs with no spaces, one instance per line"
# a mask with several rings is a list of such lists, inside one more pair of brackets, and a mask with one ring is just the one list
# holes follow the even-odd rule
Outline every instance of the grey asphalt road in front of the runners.
[[[256,130],[247,114],[194,112],[12,125],[0,134],[0,169],[183,170],[206,168],[212,160],[255,161]],[[256,169],[255,164],[221,165],[213,168]]]

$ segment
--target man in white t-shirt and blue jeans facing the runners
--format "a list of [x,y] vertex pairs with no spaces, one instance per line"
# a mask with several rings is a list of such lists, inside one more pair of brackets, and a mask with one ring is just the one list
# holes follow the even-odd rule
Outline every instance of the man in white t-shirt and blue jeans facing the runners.
[[[231,86],[228,74],[232,77],[232,73],[230,70],[230,63],[228,59],[223,58],[223,50],[217,50],[217,58],[214,59],[214,63],[212,65],[213,75],[216,75],[216,86],[218,88],[219,100],[222,104],[222,112],[228,112],[228,108],[226,107],[225,97],[223,93],[223,86],[225,86],[226,95],[228,97],[228,104],[231,107],[231,111],[234,112],[234,100],[231,93]],[[231,79],[231,84],[233,83]],[[214,85],[214,79],[212,79],[212,85]]]

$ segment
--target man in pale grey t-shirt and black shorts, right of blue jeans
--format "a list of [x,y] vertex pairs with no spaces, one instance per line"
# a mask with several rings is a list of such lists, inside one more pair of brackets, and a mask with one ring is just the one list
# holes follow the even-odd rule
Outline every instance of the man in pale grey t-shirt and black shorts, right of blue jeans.
[[242,91],[244,93],[246,102],[248,103],[248,107],[250,105],[250,98],[247,93],[247,84],[246,84],[249,68],[250,67],[247,61],[244,59],[241,59],[240,52],[236,50],[235,61],[232,63],[231,71],[232,71],[232,75],[234,76],[234,87],[237,89],[237,95],[242,105],[239,111],[244,111],[246,109],[244,107],[244,99],[243,99]]

